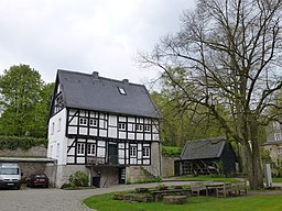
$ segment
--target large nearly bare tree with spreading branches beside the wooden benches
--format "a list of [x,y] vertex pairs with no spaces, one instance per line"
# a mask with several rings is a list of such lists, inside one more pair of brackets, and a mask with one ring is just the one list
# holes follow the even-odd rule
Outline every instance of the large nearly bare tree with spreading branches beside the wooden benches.
[[[208,109],[240,143],[252,189],[263,186],[258,129],[279,109],[281,9],[281,0],[198,0],[182,16],[178,33],[141,56],[142,64],[166,74],[184,107],[193,102]],[[186,70],[184,82],[172,68]]]

